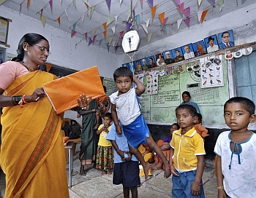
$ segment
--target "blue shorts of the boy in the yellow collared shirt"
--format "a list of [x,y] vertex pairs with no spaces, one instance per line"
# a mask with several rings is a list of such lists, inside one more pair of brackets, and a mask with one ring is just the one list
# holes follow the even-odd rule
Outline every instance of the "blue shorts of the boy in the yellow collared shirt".
[[[195,181],[196,170],[191,170],[184,173],[177,173],[179,177],[173,175],[173,198],[204,198],[205,194],[203,191],[203,184],[200,185],[200,194],[198,196],[193,196],[191,194],[190,186]],[[202,183],[202,181],[201,181]]]

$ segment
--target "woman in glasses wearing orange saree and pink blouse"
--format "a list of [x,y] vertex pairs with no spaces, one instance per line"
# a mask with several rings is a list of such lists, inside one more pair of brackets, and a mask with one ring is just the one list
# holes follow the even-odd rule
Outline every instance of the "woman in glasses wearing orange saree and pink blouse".
[[67,198],[63,114],[56,114],[42,89],[56,76],[37,70],[48,58],[48,41],[27,33],[17,52],[20,62],[0,66],[0,107],[4,107],[0,165],[6,174],[5,197]]

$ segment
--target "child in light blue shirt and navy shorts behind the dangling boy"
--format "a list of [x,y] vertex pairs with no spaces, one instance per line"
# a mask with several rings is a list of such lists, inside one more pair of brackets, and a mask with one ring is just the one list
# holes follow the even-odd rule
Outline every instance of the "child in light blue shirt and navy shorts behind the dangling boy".
[[116,133],[115,124],[111,127],[107,139],[111,141],[113,148],[115,148],[113,184],[123,185],[124,198],[129,198],[129,190],[132,192],[132,198],[137,198],[137,186],[140,185],[138,159],[129,152],[127,138],[124,133],[120,135]]

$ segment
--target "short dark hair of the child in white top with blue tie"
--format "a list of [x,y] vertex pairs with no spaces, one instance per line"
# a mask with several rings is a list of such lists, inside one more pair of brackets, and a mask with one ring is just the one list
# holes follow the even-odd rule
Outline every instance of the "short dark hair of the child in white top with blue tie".
[[241,105],[243,105],[246,108],[246,110],[249,111],[249,116],[252,116],[252,114],[255,114],[255,103],[253,103],[252,100],[249,100],[248,98],[244,98],[244,97],[230,98],[229,100],[227,100],[227,102],[225,102],[224,111],[227,104],[230,104],[230,103],[240,103]]

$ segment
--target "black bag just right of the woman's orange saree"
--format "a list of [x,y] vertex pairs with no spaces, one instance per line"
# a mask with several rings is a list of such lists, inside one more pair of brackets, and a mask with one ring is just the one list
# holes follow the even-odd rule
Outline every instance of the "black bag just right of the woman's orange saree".
[[69,137],[70,139],[80,138],[81,128],[75,119],[70,119],[70,122],[64,122],[64,127],[62,127],[61,130],[64,130],[65,136]]

